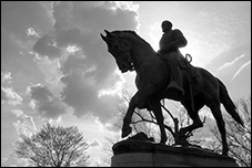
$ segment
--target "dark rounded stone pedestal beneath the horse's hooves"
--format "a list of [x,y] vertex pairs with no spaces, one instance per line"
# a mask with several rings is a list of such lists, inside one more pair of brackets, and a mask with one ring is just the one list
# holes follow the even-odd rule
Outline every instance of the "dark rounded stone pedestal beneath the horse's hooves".
[[238,167],[234,159],[198,147],[128,139],[112,149],[111,167]]

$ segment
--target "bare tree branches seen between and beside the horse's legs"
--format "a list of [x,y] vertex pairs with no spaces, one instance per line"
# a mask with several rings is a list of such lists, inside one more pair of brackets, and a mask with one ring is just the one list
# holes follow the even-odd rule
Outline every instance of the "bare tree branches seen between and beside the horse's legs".
[[[132,96],[127,92],[127,90],[124,90],[123,97],[127,103],[130,103],[130,99]],[[192,124],[191,123],[192,120],[187,114],[187,109],[184,107],[180,108],[178,117],[174,117],[171,114],[171,112],[165,107],[164,101],[161,102],[161,106],[163,108],[163,114],[164,114],[164,128],[169,133],[167,144],[168,145],[173,145],[173,144],[189,145],[189,143],[193,143],[194,145],[198,145],[200,141],[191,140],[190,137],[192,137],[193,133],[198,132],[199,129],[184,135],[183,139],[179,137],[180,128]],[[127,107],[121,107],[120,112],[121,112],[120,117],[123,118],[127,113]],[[203,118],[203,123],[204,122],[205,122],[205,117]],[[157,138],[155,140],[159,141],[158,138],[160,138],[160,135],[159,135],[158,122],[151,111],[135,108],[134,115],[132,116],[131,126],[132,126],[132,134],[143,132],[147,134],[148,137],[154,137]]]

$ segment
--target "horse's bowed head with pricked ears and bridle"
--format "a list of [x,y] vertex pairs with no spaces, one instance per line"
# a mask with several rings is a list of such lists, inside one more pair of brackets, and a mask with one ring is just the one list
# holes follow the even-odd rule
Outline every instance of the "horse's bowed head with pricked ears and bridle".
[[105,36],[101,35],[101,39],[107,43],[108,51],[115,59],[119,70],[124,73],[127,71],[133,71],[133,63],[131,59],[131,42],[120,38],[117,33],[104,30]]

